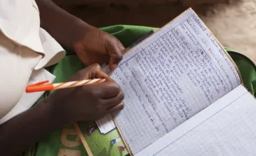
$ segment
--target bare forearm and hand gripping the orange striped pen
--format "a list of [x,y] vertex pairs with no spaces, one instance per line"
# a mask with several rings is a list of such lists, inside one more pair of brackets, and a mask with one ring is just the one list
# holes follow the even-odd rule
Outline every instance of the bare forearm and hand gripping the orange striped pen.
[[4,123],[0,127],[1,154],[18,155],[55,128],[75,121],[95,121],[122,110],[124,94],[119,85],[102,72],[100,65],[82,69],[69,81],[93,78],[106,78],[107,82],[55,91]]

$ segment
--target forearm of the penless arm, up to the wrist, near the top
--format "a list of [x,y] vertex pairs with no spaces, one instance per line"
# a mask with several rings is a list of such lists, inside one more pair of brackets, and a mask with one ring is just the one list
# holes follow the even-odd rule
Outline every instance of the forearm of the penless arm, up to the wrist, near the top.
[[80,35],[75,34],[75,30],[90,26],[80,18],[61,9],[51,0],[36,0],[36,2],[40,11],[41,27],[46,29],[60,44],[72,47],[73,40]]

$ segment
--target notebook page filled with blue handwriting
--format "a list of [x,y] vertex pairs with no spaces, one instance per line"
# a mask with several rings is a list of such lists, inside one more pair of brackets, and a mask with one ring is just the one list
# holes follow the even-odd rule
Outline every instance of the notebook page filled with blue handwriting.
[[110,77],[124,91],[115,120],[133,154],[240,84],[191,9],[124,55]]

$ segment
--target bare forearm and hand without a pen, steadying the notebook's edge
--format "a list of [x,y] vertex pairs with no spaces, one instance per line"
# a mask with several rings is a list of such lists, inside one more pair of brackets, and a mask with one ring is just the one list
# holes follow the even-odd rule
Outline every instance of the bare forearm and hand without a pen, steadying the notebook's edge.
[[117,67],[124,50],[117,38],[60,9],[53,1],[37,0],[37,4],[41,26],[58,43],[75,50],[85,65],[109,62],[110,69]]

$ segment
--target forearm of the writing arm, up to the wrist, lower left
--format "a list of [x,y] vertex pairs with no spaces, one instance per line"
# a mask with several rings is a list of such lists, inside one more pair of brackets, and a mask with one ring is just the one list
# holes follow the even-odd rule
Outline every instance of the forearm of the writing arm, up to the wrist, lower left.
[[0,126],[1,155],[21,154],[58,126],[46,102],[41,102]]

